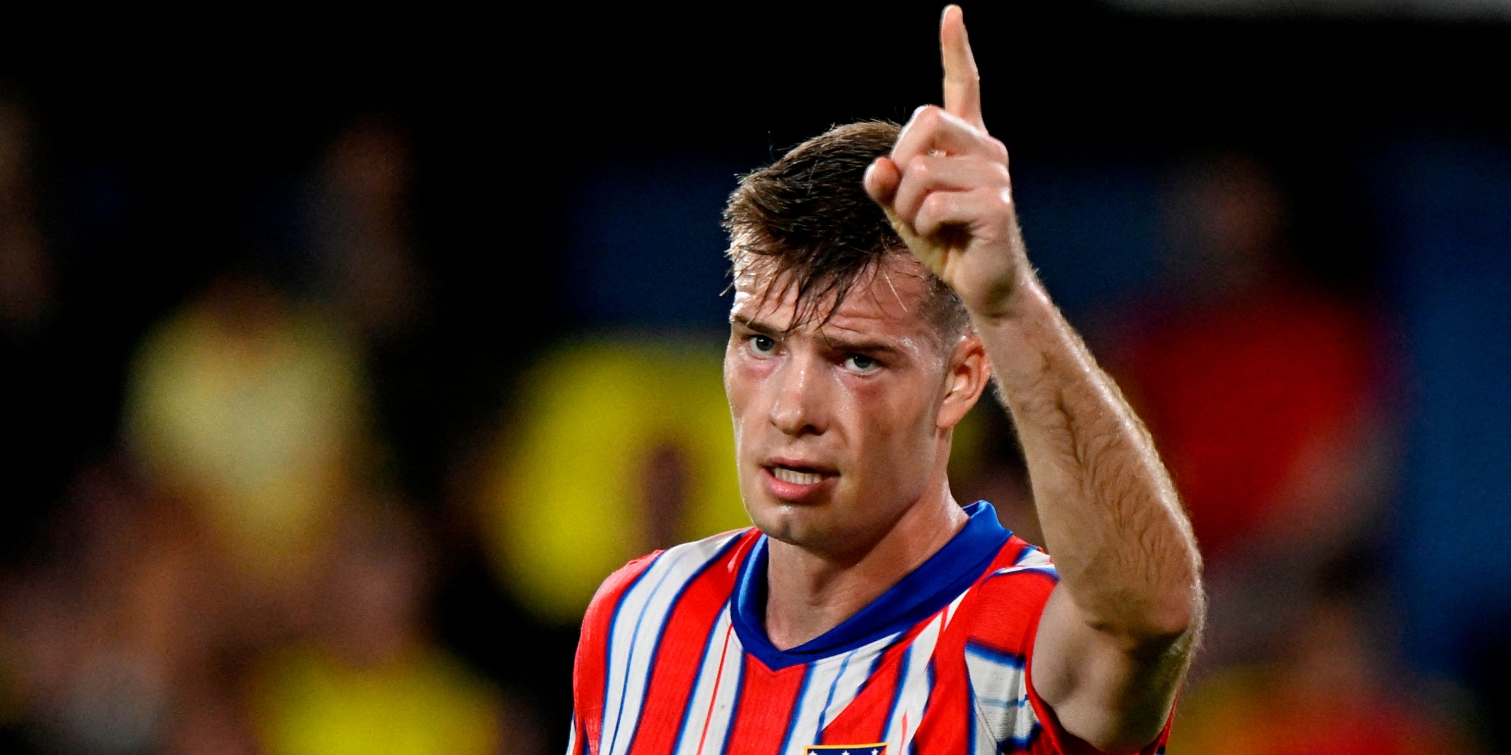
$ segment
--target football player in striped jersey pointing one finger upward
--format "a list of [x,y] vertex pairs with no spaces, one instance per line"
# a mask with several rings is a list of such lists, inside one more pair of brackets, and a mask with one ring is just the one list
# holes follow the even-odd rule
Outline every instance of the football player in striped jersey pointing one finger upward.
[[[731,196],[724,374],[756,528],[604,581],[571,752],[1163,749],[1200,557],[1027,264],[958,8],[940,36],[943,109],[831,130]],[[950,497],[952,427],[993,376],[1053,566]]]

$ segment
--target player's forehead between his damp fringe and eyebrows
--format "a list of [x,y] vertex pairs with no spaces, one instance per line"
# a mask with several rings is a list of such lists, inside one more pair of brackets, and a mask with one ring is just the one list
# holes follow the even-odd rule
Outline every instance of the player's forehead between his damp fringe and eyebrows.
[[734,269],[731,317],[783,331],[822,328],[911,335],[928,328],[923,307],[929,288],[928,270],[911,254],[888,254],[857,276],[836,310],[834,294],[799,302],[798,287],[789,273],[777,272],[771,258],[746,255]]

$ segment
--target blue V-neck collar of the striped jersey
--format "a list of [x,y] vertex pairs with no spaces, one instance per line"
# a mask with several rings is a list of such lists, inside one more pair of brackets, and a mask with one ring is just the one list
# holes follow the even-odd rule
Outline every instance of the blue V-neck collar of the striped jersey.
[[876,596],[839,627],[787,651],[778,651],[766,637],[766,536],[756,541],[730,601],[730,619],[740,645],[777,670],[849,652],[888,634],[904,631],[955,599],[987,569],[1012,533],[997,522],[997,512],[987,501],[966,506],[970,516],[949,542],[917,569]]

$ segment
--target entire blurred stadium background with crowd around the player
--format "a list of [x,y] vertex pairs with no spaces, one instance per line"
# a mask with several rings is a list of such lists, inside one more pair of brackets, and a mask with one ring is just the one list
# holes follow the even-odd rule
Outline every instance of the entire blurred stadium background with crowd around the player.
[[[1170,752],[1511,752],[1511,3],[966,11],[1207,557]],[[935,101],[937,14],[11,27],[0,750],[564,750],[597,581],[745,521],[734,175]],[[994,405],[955,464],[1037,539]]]

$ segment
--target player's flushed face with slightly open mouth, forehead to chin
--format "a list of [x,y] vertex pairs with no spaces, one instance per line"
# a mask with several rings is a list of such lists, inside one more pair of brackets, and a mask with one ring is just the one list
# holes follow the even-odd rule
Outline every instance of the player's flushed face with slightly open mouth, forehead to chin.
[[920,317],[925,275],[890,255],[825,323],[792,331],[793,291],[763,299],[769,275],[736,276],[724,387],[740,494],[766,535],[831,554],[867,548],[943,486],[947,355]]

